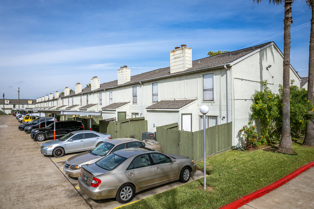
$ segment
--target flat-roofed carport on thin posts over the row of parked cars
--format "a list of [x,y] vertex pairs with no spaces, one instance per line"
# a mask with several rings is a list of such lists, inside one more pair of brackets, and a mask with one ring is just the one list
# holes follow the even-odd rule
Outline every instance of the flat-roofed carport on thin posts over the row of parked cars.
[[[22,110],[22,109],[17,109],[17,110]],[[25,110],[25,109],[23,109]],[[51,113],[54,114],[54,118],[56,118],[56,114],[59,115],[75,115],[75,121],[76,121],[76,115],[89,115],[89,130],[92,129],[92,115],[101,115],[102,112],[90,112],[90,111],[77,111],[77,110],[33,110],[33,109],[26,109],[25,111],[30,111],[30,112],[43,112],[45,113]],[[30,113],[31,114],[31,113]],[[46,117],[45,117],[46,121]],[[40,127],[40,124],[39,124]],[[46,122],[45,122],[45,127],[46,127]],[[53,132],[54,132],[54,139],[56,139],[56,120],[54,120],[53,123]]]

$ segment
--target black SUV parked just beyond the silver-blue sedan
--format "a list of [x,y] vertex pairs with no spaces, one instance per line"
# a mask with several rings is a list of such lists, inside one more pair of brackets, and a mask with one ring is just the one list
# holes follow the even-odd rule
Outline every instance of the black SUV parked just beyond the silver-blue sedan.
[[[83,131],[84,126],[81,121],[58,121],[56,122],[56,138],[61,138],[72,131]],[[53,138],[53,123],[46,128],[36,128],[30,132],[30,137],[39,142],[46,138]]]

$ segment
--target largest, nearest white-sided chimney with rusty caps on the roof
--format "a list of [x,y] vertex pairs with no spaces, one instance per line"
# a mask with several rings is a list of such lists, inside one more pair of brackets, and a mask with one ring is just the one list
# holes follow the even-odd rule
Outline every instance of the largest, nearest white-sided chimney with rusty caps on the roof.
[[182,72],[192,67],[192,48],[187,45],[170,51],[170,73]]

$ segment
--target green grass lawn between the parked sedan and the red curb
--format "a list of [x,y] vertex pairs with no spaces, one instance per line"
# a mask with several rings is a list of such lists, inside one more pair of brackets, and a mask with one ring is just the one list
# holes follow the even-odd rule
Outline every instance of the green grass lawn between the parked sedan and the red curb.
[[[314,148],[292,144],[296,155],[257,150],[252,153],[229,151],[206,160],[207,185],[203,178],[123,206],[136,208],[219,208],[267,186],[314,160]],[[203,161],[197,164],[203,169]]]

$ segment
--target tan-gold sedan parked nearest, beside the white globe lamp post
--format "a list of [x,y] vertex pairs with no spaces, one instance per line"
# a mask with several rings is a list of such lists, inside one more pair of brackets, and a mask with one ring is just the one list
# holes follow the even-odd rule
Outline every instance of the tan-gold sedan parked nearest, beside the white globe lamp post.
[[193,160],[145,148],[127,148],[81,166],[79,188],[94,200],[116,198],[120,203],[136,192],[179,180],[187,182],[196,172]]

